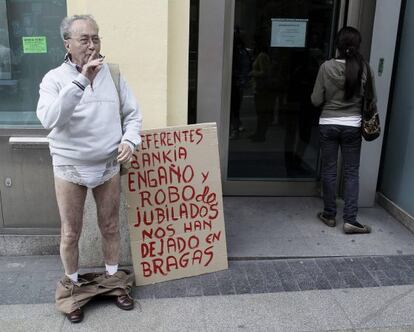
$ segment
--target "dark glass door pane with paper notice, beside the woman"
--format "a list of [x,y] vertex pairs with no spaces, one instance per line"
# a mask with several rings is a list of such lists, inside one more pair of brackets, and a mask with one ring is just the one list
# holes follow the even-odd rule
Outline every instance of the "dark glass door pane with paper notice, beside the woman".
[[340,1],[236,0],[226,194],[318,194],[319,110]]

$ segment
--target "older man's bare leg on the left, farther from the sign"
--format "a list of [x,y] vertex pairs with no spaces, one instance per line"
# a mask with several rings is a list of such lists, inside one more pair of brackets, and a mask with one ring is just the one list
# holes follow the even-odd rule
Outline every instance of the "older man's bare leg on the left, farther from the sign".
[[55,191],[61,219],[60,257],[69,275],[78,271],[78,242],[87,188],[55,177]]

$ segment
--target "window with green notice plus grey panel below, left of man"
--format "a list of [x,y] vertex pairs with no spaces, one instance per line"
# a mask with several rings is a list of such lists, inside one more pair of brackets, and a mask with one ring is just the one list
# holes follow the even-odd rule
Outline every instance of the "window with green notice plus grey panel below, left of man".
[[42,77],[63,62],[59,25],[66,13],[65,0],[0,0],[0,234],[59,234],[47,131],[36,105]]

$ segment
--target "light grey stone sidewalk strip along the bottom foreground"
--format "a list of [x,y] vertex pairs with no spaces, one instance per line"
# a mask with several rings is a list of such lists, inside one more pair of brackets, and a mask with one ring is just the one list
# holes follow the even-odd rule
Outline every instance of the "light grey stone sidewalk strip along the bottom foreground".
[[1,305],[1,331],[413,331],[413,286],[95,302],[71,324],[53,304]]

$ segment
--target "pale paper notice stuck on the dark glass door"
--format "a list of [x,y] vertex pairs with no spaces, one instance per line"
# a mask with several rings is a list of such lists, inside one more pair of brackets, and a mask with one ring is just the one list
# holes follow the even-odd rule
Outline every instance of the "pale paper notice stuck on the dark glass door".
[[305,47],[307,19],[272,18],[271,47]]

